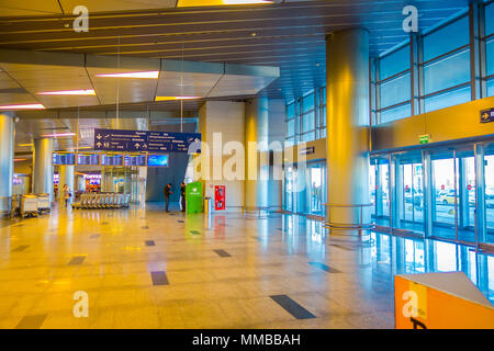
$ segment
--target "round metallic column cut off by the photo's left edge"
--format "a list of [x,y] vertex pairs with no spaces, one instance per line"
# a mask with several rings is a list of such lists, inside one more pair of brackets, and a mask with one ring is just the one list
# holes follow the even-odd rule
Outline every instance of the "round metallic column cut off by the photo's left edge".
[[10,212],[13,181],[14,121],[0,113],[0,214]]

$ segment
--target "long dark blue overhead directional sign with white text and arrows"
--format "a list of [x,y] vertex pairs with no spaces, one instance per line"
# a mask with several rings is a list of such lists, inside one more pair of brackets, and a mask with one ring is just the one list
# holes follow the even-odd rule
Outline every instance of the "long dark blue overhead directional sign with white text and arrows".
[[188,152],[193,143],[198,147],[191,151],[200,151],[200,133],[94,129],[94,150]]

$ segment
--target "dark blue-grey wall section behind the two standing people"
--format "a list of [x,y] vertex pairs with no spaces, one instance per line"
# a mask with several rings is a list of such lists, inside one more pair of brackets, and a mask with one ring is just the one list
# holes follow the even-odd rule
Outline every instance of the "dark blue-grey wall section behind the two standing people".
[[[154,127],[151,131],[162,132],[180,132],[180,125],[167,125],[162,127]],[[194,133],[195,123],[183,124],[183,133]],[[180,152],[170,152],[168,159],[168,168],[147,168],[146,201],[164,202],[162,190],[166,184],[171,183],[173,194],[170,201],[178,202],[180,197],[180,183],[186,177],[187,165],[189,163],[189,155]]]

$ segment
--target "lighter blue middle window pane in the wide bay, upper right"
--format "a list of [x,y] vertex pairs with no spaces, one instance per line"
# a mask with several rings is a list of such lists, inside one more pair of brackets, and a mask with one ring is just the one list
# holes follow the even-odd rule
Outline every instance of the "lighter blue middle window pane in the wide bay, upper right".
[[426,94],[470,81],[470,50],[427,65],[424,77]]

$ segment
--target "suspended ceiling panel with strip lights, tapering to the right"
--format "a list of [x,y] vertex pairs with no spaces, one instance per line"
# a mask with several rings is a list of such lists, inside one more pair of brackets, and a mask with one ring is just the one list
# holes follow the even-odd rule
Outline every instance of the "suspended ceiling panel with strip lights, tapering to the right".
[[[3,104],[31,100],[46,109],[151,103],[157,95],[254,95],[279,77],[277,67],[2,49],[0,68],[4,71],[0,87],[19,89],[3,93],[0,90]],[[149,71],[159,77],[101,77]],[[92,89],[96,95],[40,94]]]

